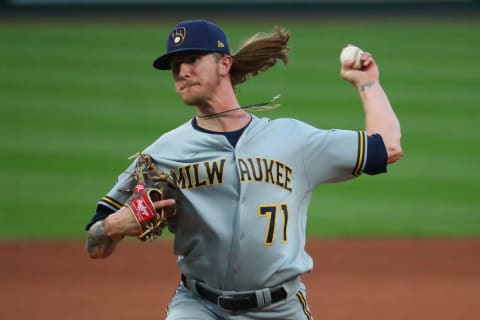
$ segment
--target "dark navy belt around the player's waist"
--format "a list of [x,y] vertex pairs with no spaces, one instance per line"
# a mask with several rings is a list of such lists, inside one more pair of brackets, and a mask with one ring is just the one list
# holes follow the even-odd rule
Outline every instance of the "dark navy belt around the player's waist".
[[245,310],[266,307],[287,297],[281,286],[255,291],[233,292],[211,289],[201,281],[187,279],[182,274],[182,282],[187,289],[225,310]]

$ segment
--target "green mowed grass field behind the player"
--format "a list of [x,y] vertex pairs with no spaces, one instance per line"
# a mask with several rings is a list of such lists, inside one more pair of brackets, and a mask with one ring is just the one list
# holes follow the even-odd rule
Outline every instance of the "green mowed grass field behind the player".
[[[259,116],[362,129],[340,49],[357,44],[380,66],[405,156],[388,175],[321,186],[310,236],[480,235],[479,22],[216,21],[233,48],[275,24],[291,32],[290,63],[239,88],[243,104],[282,94]],[[0,23],[0,239],[84,237],[127,157],[192,117],[151,67],[175,22]]]

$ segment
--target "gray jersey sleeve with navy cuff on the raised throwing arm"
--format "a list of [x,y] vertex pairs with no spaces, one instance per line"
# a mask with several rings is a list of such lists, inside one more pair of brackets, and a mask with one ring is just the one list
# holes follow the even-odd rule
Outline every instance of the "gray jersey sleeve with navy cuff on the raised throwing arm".
[[313,186],[352,179],[363,172],[386,172],[381,136],[368,136],[365,131],[317,130],[306,140],[304,161]]

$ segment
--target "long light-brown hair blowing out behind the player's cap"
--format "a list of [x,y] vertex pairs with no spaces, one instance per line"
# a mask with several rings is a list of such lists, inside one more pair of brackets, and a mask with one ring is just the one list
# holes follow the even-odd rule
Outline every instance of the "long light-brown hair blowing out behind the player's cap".
[[235,54],[230,69],[230,79],[235,87],[251,76],[258,75],[273,67],[278,60],[288,63],[287,47],[290,34],[288,31],[275,27],[273,33],[257,33],[246,40]]

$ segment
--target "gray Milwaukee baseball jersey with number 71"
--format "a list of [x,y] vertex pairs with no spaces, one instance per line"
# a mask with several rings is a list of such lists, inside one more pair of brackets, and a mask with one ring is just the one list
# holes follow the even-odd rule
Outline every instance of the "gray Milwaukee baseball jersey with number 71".
[[[310,271],[305,228],[315,187],[358,176],[367,162],[371,172],[386,167],[381,138],[255,116],[235,146],[193,120],[143,152],[174,169],[180,184],[170,229],[181,272],[234,291],[277,286]],[[101,199],[90,225],[123,205],[127,196],[118,189],[133,168]]]

